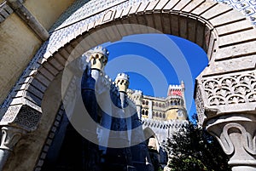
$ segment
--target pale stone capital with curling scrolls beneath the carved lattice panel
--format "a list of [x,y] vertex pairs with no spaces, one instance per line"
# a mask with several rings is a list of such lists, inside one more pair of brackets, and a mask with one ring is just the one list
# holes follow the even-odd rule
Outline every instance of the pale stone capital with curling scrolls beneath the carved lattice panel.
[[232,167],[247,165],[255,170],[255,122],[255,116],[240,114],[220,117],[207,125],[207,131],[218,139],[224,152],[230,156]]

